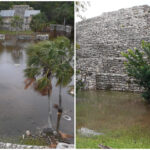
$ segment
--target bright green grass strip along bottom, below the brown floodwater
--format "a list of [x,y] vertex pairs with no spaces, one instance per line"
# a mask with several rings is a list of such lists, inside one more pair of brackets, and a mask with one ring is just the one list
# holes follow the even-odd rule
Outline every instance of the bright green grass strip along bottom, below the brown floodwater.
[[111,148],[150,148],[150,131],[148,128],[132,127],[95,137],[77,134],[76,140],[77,148],[99,148],[99,144]]

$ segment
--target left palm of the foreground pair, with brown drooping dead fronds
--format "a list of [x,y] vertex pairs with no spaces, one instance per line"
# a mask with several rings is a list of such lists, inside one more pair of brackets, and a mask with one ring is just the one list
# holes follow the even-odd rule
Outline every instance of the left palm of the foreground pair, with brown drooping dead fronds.
[[48,127],[53,129],[52,125],[52,102],[50,94],[52,90],[52,75],[55,66],[55,47],[50,41],[40,42],[31,45],[27,49],[27,68],[25,76],[28,78],[26,87],[34,83],[34,88],[42,95],[48,95],[49,102],[49,117]]

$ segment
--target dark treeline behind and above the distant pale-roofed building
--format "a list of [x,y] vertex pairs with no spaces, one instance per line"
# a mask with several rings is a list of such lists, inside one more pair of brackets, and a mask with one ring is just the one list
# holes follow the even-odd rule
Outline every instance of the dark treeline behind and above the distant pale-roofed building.
[[74,2],[0,2],[0,10],[6,10],[13,5],[30,5],[41,10],[49,23],[74,25]]

